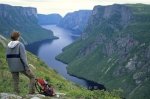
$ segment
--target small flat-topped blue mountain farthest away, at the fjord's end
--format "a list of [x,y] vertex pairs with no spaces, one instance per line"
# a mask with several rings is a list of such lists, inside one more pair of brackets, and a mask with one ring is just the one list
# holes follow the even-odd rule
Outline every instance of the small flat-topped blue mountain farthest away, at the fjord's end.
[[59,14],[48,14],[48,15],[38,14],[37,19],[40,25],[47,25],[47,24],[56,25],[60,22],[62,16],[60,16]]

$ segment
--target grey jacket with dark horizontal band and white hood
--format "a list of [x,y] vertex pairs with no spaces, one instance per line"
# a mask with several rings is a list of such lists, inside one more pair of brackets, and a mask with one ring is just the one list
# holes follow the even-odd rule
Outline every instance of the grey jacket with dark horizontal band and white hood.
[[6,60],[11,72],[21,72],[29,69],[25,47],[19,41],[8,43]]

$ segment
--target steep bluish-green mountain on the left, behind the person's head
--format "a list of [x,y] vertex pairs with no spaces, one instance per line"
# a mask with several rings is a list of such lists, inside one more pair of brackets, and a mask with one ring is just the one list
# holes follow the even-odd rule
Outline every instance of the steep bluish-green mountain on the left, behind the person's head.
[[0,33],[8,38],[13,30],[20,31],[27,43],[55,38],[38,25],[36,8],[0,4]]

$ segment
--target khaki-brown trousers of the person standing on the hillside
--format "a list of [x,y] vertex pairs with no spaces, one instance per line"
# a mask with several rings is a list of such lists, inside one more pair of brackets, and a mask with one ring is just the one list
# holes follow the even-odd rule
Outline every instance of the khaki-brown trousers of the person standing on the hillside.
[[[25,76],[27,76],[30,79],[30,84],[29,84],[29,93],[33,94],[35,93],[35,76],[33,75],[31,70],[28,71],[23,71],[20,72],[22,74],[24,74]],[[16,93],[20,93],[19,90],[19,72],[11,72],[12,74],[12,78],[13,78],[13,88],[14,88],[14,92]]]

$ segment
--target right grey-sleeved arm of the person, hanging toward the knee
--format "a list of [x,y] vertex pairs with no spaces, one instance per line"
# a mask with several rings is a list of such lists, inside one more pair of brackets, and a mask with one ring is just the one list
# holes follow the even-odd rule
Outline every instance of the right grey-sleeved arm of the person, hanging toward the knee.
[[23,63],[23,66],[25,67],[25,70],[29,70],[28,62],[27,62],[27,55],[26,55],[26,50],[24,45],[21,43],[20,44],[20,59],[21,62]]

